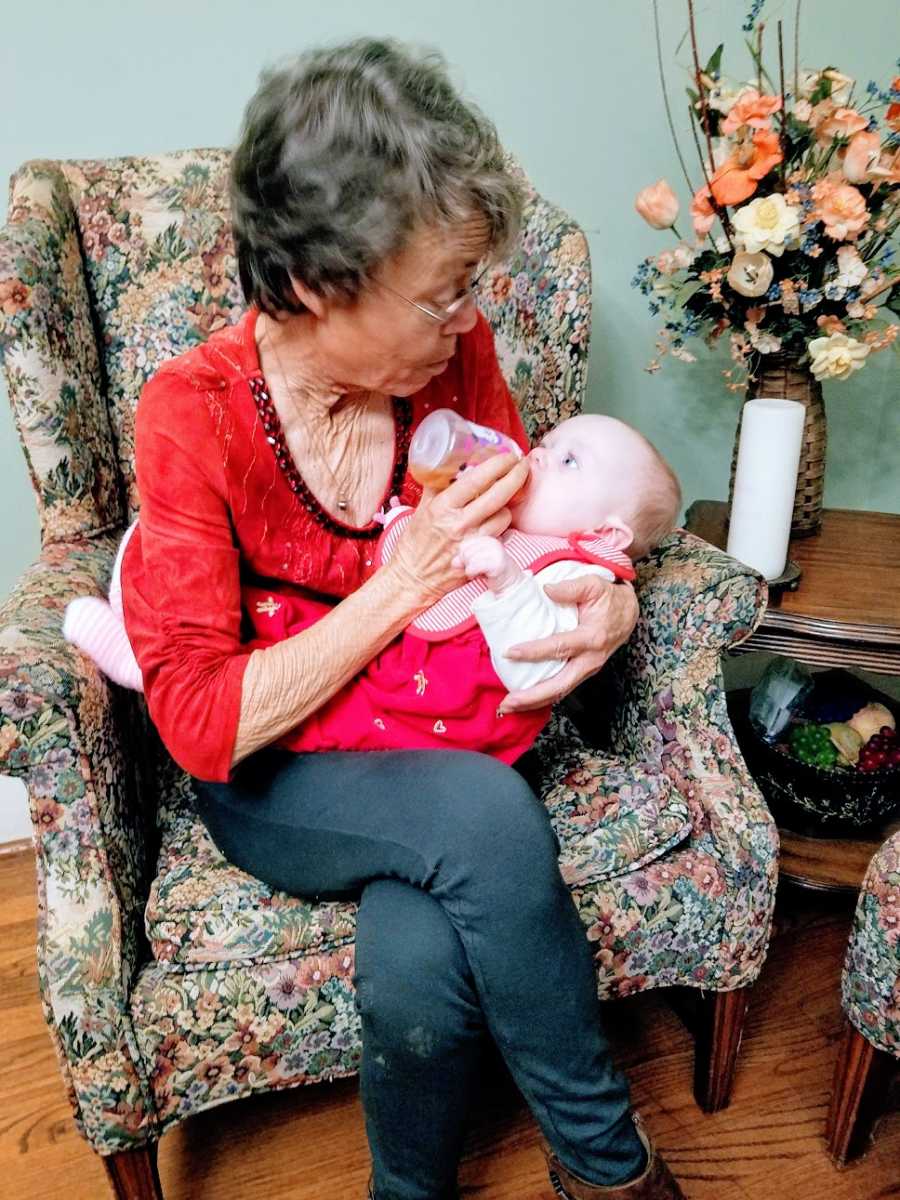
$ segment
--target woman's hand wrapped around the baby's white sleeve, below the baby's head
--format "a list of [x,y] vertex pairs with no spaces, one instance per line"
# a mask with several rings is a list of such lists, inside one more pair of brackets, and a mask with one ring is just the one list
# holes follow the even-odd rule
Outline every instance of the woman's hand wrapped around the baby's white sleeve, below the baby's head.
[[582,575],[565,583],[548,583],[544,590],[558,604],[577,605],[578,624],[569,634],[522,642],[505,654],[523,662],[568,661],[552,679],[509,692],[500,703],[502,713],[526,713],[568,696],[625,644],[637,624],[637,598],[628,583],[610,583],[598,575]]

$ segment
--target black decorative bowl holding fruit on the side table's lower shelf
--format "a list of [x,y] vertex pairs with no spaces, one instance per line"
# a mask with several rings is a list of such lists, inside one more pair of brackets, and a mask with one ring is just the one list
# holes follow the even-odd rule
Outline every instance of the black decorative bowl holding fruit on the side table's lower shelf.
[[[827,672],[829,683],[846,672]],[[817,677],[818,678],[818,677]],[[847,676],[856,688],[860,680]],[[896,701],[865,685],[868,700],[898,719]],[[763,740],[748,719],[750,690],[728,692],[728,714],[750,774],[780,826],[796,833],[830,836],[839,829],[881,823],[900,809],[900,767],[830,769],[800,762],[781,745]],[[899,722],[900,724],[900,722]],[[786,737],[786,734],[784,734]]]

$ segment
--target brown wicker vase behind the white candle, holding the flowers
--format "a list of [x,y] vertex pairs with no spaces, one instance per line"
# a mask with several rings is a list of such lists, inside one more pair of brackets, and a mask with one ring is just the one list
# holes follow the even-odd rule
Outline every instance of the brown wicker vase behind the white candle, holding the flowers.
[[[809,538],[818,533],[822,523],[822,493],[824,491],[826,426],[822,384],[815,379],[806,366],[799,366],[797,359],[786,354],[767,354],[763,365],[756,372],[756,378],[746,389],[746,398],[757,396],[776,396],[781,400],[797,400],[806,407],[806,420],[803,426],[803,445],[800,446],[800,466],[797,472],[797,492],[793,500],[791,518],[791,536]],[[738,443],[740,442],[740,421],[734,436],[734,451],[731,457],[731,486],[728,490],[728,508],[734,496],[734,470],[738,463]]]

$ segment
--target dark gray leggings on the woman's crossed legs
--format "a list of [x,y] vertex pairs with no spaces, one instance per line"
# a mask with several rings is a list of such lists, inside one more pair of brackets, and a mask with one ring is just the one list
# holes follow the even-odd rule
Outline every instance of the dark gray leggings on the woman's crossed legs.
[[601,1184],[640,1171],[584,928],[521,774],[468,751],[265,750],[232,784],[196,784],[233,863],[295,895],[359,899],[378,1200],[455,1194],[485,1032],[566,1166]]

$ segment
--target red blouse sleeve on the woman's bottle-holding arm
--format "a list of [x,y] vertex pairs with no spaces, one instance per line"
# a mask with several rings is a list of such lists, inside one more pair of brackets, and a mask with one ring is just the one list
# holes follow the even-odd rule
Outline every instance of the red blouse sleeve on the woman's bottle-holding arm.
[[160,736],[204,780],[227,780],[250,652],[222,451],[206,391],[163,370],[136,421],[140,521],[122,563],[131,644]]

